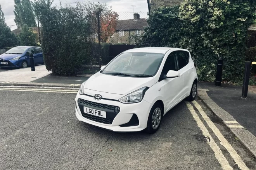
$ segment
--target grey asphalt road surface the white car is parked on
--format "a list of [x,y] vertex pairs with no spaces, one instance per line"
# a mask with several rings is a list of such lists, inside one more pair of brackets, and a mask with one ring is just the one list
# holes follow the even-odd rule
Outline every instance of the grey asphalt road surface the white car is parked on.
[[[224,169],[239,170],[233,153],[220,143],[192,103],[181,102],[171,109],[155,134],[114,133],[76,119],[75,93],[26,89],[0,87],[1,170],[221,170],[225,163],[230,168]],[[255,170],[255,158],[197,102],[242,163]]]

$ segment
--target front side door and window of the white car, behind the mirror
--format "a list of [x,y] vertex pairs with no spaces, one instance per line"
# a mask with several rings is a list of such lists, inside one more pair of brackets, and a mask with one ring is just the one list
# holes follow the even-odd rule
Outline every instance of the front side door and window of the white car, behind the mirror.
[[[178,69],[176,51],[172,52],[167,57],[160,77],[165,77],[165,75],[168,73],[169,70],[178,71],[180,73]],[[164,105],[166,105],[166,111],[168,111],[169,109],[171,109],[171,107],[173,107],[173,105],[175,105],[182,98],[181,95],[182,95],[182,89],[184,84],[184,77],[180,73],[179,77],[164,78],[162,81],[164,83],[164,90],[165,90]]]

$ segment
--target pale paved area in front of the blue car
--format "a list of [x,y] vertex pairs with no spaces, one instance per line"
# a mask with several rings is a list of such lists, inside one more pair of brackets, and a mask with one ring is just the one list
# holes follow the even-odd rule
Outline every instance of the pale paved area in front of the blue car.
[[31,71],[31,68],[20,68],[0,72],[1,82],[32,82],[38,78],[42,78],[51,73],[47,71],[45,65],[35,66],[36,71]]

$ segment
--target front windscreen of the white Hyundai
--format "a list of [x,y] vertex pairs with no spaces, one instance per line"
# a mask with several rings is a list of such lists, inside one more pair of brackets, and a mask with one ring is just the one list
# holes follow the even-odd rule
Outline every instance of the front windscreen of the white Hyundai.
[[154,76],[163,57],[164,54],[158,53],[122,53],[107,65],[102,73],[135,77]]

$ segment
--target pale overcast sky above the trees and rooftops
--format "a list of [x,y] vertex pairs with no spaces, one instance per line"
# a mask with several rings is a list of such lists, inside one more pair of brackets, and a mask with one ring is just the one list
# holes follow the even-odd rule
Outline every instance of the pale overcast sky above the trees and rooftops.
[[[91,2],[100,2],[107,3],[107,5],[112,6],[112,9],[119,13],[119,19],[132,19],[133,15],[131,14],[121,14],[122,12],[133,12],[132,5],[135,5],[134,12],[138,12],[142,17],[146,17],[146,13],[148,12],[147,8],[147,0],[90,0]],[[33,2],[33,1],[32,1]],[[87,0],[61,0],[62,6],[70,3],[71,5],[74,2],[88,2]],[[14,22],[14,0],[0,0],[0,4],[2,6],[3,13],[5,15],[5,22],[7,26],[10,26],[11,30],[17,28]],[[59,0],[54,0],[54,5],[59,6]],[[143,16],[142,16],[143,15]],[[15,26],[12,26],[15,25]]]

